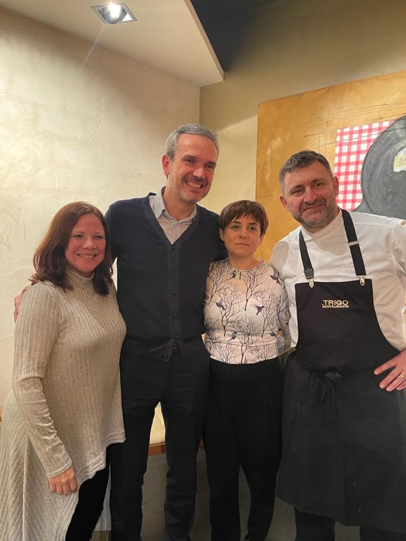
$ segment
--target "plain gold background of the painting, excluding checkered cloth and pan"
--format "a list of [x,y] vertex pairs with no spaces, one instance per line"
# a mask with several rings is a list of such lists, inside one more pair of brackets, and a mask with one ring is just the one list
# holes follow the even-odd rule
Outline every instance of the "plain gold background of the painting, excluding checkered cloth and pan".
[[279,201],[279,169],[291,154],[316,150],[333,166],[339,128],[404,115],[406,71],[260,103],[256,199],[264,204],[270,227],[258,255],[269,259],[273,245],[298,225]]

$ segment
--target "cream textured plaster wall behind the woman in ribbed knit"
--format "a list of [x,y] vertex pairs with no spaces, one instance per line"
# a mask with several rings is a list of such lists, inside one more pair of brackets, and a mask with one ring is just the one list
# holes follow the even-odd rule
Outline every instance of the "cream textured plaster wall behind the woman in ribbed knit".
[[159,189],[166,136],[198,119],[198,87],[0,9],[0,405],[13,298],[51,217]]

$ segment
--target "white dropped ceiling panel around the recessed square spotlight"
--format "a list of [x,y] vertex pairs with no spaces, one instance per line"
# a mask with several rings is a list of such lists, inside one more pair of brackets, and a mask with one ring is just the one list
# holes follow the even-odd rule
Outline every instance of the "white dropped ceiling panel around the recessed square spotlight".
[[223,71],[190,0],[125,0],[136,22],[106,25],[90,9],[108,0],[0,0],[0,6],[202,87]]

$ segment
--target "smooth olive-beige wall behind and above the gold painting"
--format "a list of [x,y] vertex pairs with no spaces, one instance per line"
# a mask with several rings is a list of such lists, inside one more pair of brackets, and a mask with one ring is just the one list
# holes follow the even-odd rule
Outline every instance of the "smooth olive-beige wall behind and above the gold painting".
[[278,0],[253,11],[225,81],[200,92],[200,121],[221,144],[205,204],[219,212],[255,198],[260,102],[406,69],[405,21],[404,0]]

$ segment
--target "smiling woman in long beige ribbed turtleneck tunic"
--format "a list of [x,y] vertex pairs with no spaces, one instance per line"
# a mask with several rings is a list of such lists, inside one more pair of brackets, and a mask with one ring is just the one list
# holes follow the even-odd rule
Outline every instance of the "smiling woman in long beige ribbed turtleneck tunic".
[[126,327],[103,215],[58,211],[34,255],[15,330],[0,443],[0,540],[84,541],[100,516],[108,446],[125,439]]

